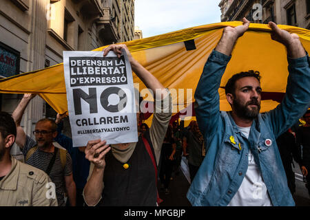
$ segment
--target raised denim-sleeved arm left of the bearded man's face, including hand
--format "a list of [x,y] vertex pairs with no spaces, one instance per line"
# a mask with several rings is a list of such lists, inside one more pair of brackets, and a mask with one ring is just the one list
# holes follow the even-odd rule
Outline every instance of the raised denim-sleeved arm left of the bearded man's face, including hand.
[[249,28],[249,21],[243,19],[243,25],[236,28],[226,27],[223,36],[216,45],[214,52],[208,58],[203,74],[195,92],[195,112],[200,131],[211,135],[216,131],[220,115],[220,97],[218,88],[226,66],[231,58],[231,52],[240,36]]

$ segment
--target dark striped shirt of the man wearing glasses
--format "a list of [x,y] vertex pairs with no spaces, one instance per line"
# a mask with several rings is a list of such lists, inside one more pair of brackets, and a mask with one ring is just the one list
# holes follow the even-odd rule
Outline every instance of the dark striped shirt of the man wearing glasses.
[[[37,142],[27,135],[25,146],[23,146],[24,157],[27,155],[28,151],[36,145],[37,145]],[[28,161],[26,161],[26,163],[36,168],[39,168],[40,170],[43,170],[45,172],[48,169],[48,164],[50,164],[50,160],[52,159],[53,155],[54,153],[44,152],[38,148],[37,151],[34,151],[34,153],[28,158]],[[50,179],[52,179],[53,183],[55,184],[56,197],[57,197],[59,206],[65,206],[65,199],[64,199],[65,179],[64,177],[71,175],[71,174],[72,174],[72,159],[68,151],[66,151],[66,163],[65,163],[64,169],[62,169],[61,158],[58,153],[58,155],[56,156],[55,162],[52,166],[52,169],[50,170]]]

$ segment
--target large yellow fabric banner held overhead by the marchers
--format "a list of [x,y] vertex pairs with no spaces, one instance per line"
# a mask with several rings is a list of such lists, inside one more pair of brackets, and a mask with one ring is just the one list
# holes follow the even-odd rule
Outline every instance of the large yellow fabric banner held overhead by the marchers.
[[[173,96],[174,104],[180,104],[176,111],[185,108],[194,100],[194,91],[203,71],[207,57],[216,47],[222,36],[223,28],[227,25],[238,26],[239,21],[214,23],[187,28],[176,32],[152,36],[147,39],[125,42],[132,56],[169,89],[192,89],[191,93],[180,96],[177,92]],[[304,48],[310,49],[310,31],[288,25],[279,25],[283,30],[296,33],[300,36]],[[222,78],[221,86],[238,72],[254,69],[259,71],[262,80],[262,90],[269,92],[285,92],[287,85],[287,52],[285,47],[270,37],[270,28],[265,24],[251,23],[249,31],[242,36],[232,54]],[[196,50],[187,51],[184,41],[194,39]],[[105,46],[107,47],[107,46]],[[100,51],[99,47],[94,51]],[[139,83],[139,89],[145,88],[134,75],[134,83]],[[210,82],[212,83],[212,82]],[[52,106],[55,111],[64,113],[67,109],[65,81],[63,78],[63,64],[54,65],[35,72],[20,74],[0,80],[1,93],[38,93]],[[224,89],[219,89],[220,109],[230,109]],[[185,98],[189,96],[189,98]],[[178,98],[183,98],[180,103]],[[152,98],[147,98],[152,100]],[[182,100],[182,99],[181,99]],[[278,102],[266,100],[262,102],[261,111],[269,111],[276,107]]]

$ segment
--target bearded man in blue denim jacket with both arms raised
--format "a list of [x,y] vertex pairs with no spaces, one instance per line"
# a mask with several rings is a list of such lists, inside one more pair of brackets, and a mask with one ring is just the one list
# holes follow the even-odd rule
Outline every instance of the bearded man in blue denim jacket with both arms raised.
[[[285,97],[276,109],[260,113],[260,74],[253,70],[241,72],[225,86],[232,111],[220,111],[221,78],[234,45],[249,24],[244,18],[242,25],[224,28],[196,88],[195,112],[206,154],[187,192],[193,206],[295,206],[276,138],[309,107],[309,56],[297,34],[269,22],[271,39],[287,49]],[[251,54],[245,52],[244,56]]]

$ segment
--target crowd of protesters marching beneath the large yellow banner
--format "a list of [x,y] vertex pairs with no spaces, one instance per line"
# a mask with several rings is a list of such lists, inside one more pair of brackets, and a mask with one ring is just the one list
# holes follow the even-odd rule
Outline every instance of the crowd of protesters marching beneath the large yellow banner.
[[[219,111],[220,79],[236,41],[249,28],[247,19],[224,28],[196,89],[197,121],[187,127],[170,122],[169,90],[125,45],[110,45],[103,56],[126,52],[132,70],[161,102],[154,106],[163,107],[155,109],[150,126],[137,113],[138,142],[89,140],[74,148],[63,135],[65,114],[39,120],[33,139],[23,131],[21,118],[35,94],[25,94],[12,116],[0,113],[0,206],[158,206],[157,186],[169,195],[184,157],[191,181],[187,199],[193,206],[293,206],[293,159],[310,196],[309,56],[296,34],[272,22],[269,26],[272,39],[287,47],[290,75],[287,95],[268,113],[260,113],[262,88],[254,71],[229,79],[225,93],[232,111]],[[10,155],[14,142],[25,164]],[[260,188],[260,197],[253,186]]]

